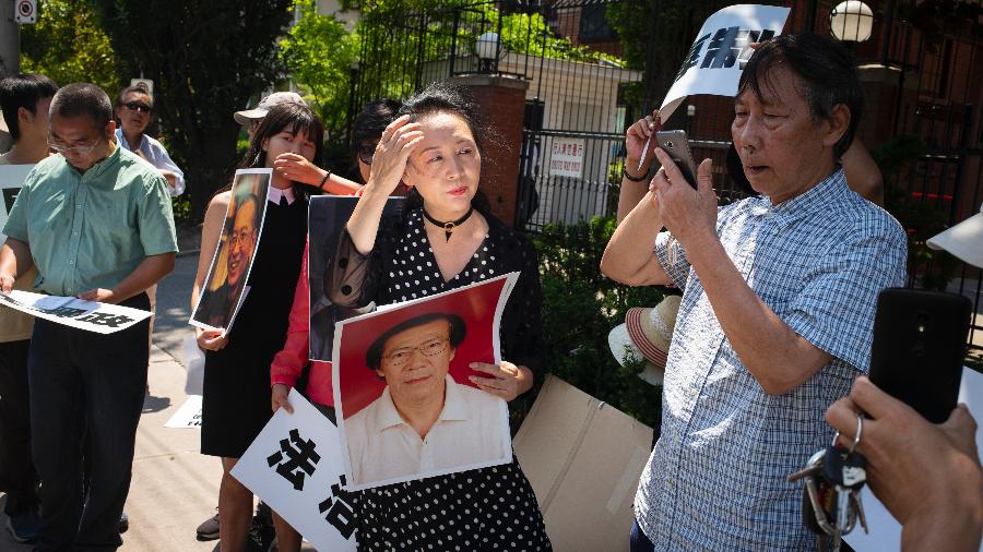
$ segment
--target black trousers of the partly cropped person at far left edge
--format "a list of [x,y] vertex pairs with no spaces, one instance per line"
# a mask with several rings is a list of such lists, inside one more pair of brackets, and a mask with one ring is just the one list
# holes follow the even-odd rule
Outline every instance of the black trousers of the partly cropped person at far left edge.
[[31,458],[27,351],[31,339],[0,343],[0,481],[8,516],[37,507],[37,471]]

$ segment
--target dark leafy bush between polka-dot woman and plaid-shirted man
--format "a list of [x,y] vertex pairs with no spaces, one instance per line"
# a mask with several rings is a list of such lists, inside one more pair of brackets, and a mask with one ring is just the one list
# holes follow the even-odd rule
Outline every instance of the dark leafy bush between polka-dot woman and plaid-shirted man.
[[637,418],[658,423],[659,388],[621,367],[607,344],[630,307],[654,307],[664,288],[629,288],[601,274],[601,255],[615,229],[611,217],[572,226],[549,225],[535,238],[543,285],[546,365],[557,376]]

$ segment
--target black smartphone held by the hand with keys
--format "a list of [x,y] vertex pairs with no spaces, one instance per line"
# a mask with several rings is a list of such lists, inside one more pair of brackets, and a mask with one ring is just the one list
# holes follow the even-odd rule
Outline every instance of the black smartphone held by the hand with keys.
[[963,296],[888,288],[877,298],[871,381],[932,423],[959,397],[972,303]]

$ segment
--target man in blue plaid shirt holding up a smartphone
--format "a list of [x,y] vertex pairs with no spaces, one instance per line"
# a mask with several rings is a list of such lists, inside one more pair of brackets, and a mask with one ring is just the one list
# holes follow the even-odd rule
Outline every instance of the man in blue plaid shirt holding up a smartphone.
[[815,549],[785,476],[829,445],[824,412],[867,371],[877,293],[904,283],[904,232],[839,163],[862,109],[841,45],[782,36],[745,68],[732,124],[760,196],[718,208],[709,159],[695,190],[655,152],[601,264],[684,289],[632,551]]

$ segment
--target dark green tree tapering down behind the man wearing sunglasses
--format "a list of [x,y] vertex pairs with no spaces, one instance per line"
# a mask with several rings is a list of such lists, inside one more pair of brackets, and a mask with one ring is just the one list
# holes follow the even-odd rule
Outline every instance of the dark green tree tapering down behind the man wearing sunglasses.
[[185,169],[191,221],[236,164],[233,112],[282,80],[276,39],[292,0],[91,0],[123,75],[155,82],[154,106]]

